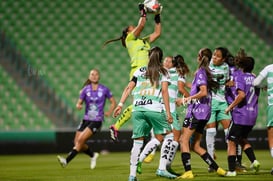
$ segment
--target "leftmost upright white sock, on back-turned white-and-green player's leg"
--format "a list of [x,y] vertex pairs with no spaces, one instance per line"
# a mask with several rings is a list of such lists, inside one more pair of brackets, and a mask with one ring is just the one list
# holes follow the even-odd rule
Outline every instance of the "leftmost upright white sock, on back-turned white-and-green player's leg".
[[138,156],[143,146],[143,140],[134,140],[133,148],[131,149],[130,157],[130,176],[136,176]]

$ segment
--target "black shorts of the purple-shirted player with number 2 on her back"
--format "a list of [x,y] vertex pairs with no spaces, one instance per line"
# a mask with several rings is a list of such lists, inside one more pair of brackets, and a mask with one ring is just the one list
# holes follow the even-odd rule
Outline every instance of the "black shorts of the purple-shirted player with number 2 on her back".
[[252,131],[253,126],[239,125],[234,122],[230,123],[229,133],[227,139],[239,143],[240,140],[246,139],[250,131]]

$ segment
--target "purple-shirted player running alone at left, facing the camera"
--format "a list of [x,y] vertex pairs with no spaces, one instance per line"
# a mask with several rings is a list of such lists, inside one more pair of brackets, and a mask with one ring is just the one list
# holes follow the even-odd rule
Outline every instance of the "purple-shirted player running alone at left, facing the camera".
[[[116,101],[111,91],[106,86],[100,84],[99,80],[99,71],[92,69],[89,78],[80,91],[80,97],[76,107],[80,110],[83,107],[83,103],[85,103],[85,114],[77,128],[74,138],[74,147],[66,158],[59,155],[57,156],[62,167],[66,167],[79,152],[83,152],[91,158],[91,169],[96,167],[96,160],[99,154],[95,153],[91,147],[86,144],[86,141],[101,129],[104,116],[110,116],[116,106]],[[109,110],[104,112],[106,99],[110,101],[110,106]]]

